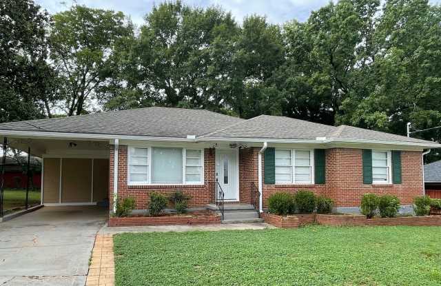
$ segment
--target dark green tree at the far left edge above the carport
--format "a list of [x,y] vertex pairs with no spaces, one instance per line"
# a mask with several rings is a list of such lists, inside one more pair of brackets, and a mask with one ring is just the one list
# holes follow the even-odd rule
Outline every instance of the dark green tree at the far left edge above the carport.
[[51,116],[50,16],[30,0],[0,2],[0,122]]

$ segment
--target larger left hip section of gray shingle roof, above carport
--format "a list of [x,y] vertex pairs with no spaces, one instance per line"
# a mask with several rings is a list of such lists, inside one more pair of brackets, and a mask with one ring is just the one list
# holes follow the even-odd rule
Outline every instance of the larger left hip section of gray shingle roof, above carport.
[[243,119],[207,110],[152,107],[3,123],[0,124],[0,130],[185,138],[187,135],[199,136],[240,121]]

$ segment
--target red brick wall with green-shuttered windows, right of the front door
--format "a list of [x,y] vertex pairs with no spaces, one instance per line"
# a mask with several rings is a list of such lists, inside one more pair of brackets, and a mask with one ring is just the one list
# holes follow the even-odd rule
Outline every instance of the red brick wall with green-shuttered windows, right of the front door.
[[415,196],[422,195],[421,156],[421,152],[402,152],[402,183],[400,185],[365,185],[363,184],[361,149],[327,149],[325,185],[264,184],[263,207],[267,207],[267,199],[275,192],[297,192],[298,190],[311,190],[317,195],[333,198],[336,207],[359,206],[362,195],[369,192],[394,194],[400,198],[402,205],[411,205]]

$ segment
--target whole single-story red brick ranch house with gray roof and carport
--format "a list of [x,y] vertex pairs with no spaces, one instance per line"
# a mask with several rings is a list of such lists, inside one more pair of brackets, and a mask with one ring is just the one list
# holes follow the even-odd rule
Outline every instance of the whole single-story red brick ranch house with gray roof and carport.
[[[44,205],[94,205],[152,192],[219,199],[262,212],[275,192],[312,190],[340,212],[365,193],[395,194],[403,210],[424,193],[431,141],[341,125],[261,115],[244,120],[206,110],[141,108],[0,124],[12,147],[43,158]],[[170,205],[172,207],[172,205]]]

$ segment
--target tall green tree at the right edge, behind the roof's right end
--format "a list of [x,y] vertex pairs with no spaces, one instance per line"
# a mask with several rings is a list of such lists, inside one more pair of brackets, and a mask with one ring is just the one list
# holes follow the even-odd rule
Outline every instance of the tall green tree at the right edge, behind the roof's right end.
[[[405,134],[406,123],[441,125],[441,8],[424,0],[391,0],[376,19],[374,60],[338,121]],[[440,140],[437,130],[418,134]]]

